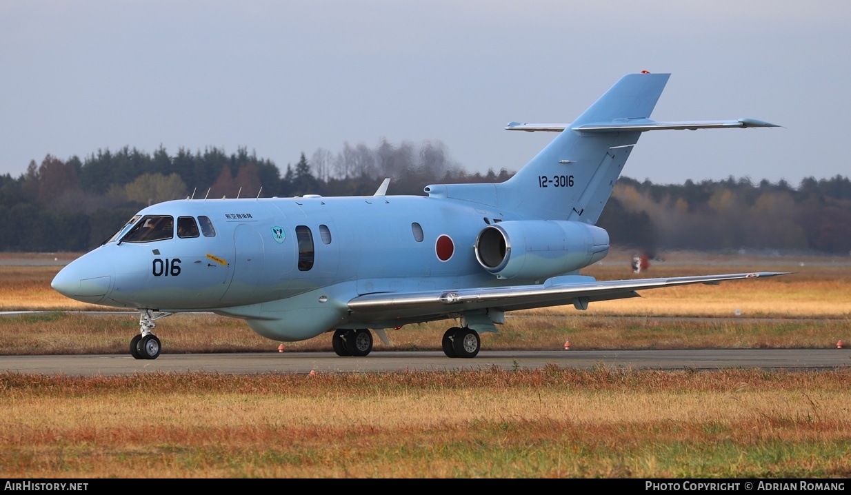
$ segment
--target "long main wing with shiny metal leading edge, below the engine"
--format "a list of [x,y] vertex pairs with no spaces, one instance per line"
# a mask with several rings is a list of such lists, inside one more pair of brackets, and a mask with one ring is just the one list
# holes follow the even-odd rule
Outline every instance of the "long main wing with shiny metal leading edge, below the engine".
[[717,285],[728,280],[786,275],[788,272],[762,271],[729,275],[677,276],[597,282],[591,276],[557,276],[540,285],[482,287],[421,293],[372,293],[349,301],[354,313],[391,315],[446,314],[495,308],[503,311],[528,310],[562,304],[586,309],[589,302],[640,297],[636,291],[675,287],[694,283]]

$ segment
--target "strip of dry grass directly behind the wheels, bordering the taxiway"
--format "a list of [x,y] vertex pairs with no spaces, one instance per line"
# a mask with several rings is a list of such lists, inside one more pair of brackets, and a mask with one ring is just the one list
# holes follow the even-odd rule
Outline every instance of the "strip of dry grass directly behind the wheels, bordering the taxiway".
[[[389,330],[390,345],[374,340],[374,351],[440,350],[447,321]],[[260,337],[234,318],[180,314],[157,321],[166,354],[277,352],[278,342]],[[568,315],[508,316],[499,333],[483,333],[485,350],[572,349],[825,349],[851,342],[848,320],[681,319]],[[138,317],[48,313],[0,317],[0,355],[127,354],[139,332]],[[330,334],[284,343],[284,350],[330,351]]]

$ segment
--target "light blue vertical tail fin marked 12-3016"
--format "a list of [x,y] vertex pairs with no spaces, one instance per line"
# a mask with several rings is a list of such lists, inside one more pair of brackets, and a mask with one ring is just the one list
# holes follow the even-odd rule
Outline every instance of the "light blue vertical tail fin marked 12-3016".
[[648,119],[670,74],[629,74],[558,134],[532,161],[497,185],[500,207],[538,219],[597,223],[640,132],[574,130]]

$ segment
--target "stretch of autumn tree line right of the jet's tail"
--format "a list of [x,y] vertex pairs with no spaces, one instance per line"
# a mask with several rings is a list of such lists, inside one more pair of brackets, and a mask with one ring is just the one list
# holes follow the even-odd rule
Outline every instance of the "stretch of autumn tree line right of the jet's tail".
[[851,253],[851,181],[754,184],[745,177],[683,185],[621,178],[600,225],[615,243],[659,249]]

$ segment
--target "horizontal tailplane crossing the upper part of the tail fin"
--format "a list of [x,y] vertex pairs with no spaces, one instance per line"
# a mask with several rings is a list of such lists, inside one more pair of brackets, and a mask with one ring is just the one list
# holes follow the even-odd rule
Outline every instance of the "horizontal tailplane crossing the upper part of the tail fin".
[[581,132],[620,132],[620,131],[657,131],[665,129],[724,129],[724,128],[779,128],[777,124],[762,122],[755,118],[740,118],[737,120],[696,120],[683,122],[656,122],[648,118],[622,119],[613,122],[592,122],[576,127],[569,123],[523,123],[508,122],[505,130],[509,131],[543,131],[560,133],[564,129]]

